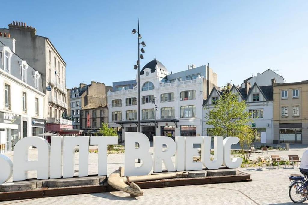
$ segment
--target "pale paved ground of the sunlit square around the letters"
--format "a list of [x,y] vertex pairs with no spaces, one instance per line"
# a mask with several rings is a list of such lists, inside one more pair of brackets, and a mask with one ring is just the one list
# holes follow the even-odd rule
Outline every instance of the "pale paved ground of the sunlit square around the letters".
[[[269,151],[263,154],[253,154],[252,157],[278,154],[287,157],[288,154],[302,155],[306,148],[294,148],[290,151]],[[30,158],[36,156],[36,150],[30,150]],[[13,158],[12,153],[8,154]],[[174,159],[173,159],[174,160]],[[78,164],[78,153],[75,155]],[[97,174],[97,154],[89,155],[89,174]],[[108,174],[124,165],[124,154],[108,155]],[[59,196],[41,199],[26,199],[0,202],[0,204],[293,204],[289,199],[289,180],[291,173],[299,174],[298,168],[280,166],[274,170],[268,168],[239,168],[248,173],[252,182],[204,184],[182,187],[166,187],[144,189],[144,196],[131,198],[127,193],[117,191],[111,193],[95,193],[71,196]],[[75,166],[78,170],[78,165]],[[78,175],[78,172],[75,173]],[[29,177],[36,177],[31,172]]]

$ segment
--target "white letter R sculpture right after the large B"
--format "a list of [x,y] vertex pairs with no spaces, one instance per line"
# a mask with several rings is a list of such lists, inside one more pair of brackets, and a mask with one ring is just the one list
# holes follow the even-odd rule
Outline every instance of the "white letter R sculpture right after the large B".
[[[163,151],[163,144],[167,145],[167,150]],[[175,171],[171,157],[174,155],[176,146],[174,140],[167,136],[154,136],[154,172],[162,172],[162,162],[164,162],[167,171]]]

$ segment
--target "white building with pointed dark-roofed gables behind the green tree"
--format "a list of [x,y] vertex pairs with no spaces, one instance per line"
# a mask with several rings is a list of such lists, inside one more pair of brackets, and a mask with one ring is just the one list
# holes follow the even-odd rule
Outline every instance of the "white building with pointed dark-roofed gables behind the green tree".
[[[232,86],[230,92],[238,95],[238,101],[243,100],[247,103],[247,111],[250,112],[253,122],[250,123],[251,128],[257,129],[256,142],[273,143],[274,129],[273,129],[273,86],[258,86],[254,83],[251,87],[246,81],[244,88],[237,88]],[[209,116],[210,110],[214,109],[216,100],[219,100],[223,93],[217,88],[213,88],[209,98],[205,101],[203,115]],[[211,135],[212,125],[206,124],[207,118],[203,121],[204,135]],[[261,137],[262,136],[262,137]]]

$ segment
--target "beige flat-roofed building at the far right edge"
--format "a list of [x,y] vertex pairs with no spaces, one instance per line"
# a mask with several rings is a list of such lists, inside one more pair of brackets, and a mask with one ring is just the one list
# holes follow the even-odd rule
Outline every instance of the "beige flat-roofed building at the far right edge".
[[308,144],[308,81],[274,84],[274,143]]

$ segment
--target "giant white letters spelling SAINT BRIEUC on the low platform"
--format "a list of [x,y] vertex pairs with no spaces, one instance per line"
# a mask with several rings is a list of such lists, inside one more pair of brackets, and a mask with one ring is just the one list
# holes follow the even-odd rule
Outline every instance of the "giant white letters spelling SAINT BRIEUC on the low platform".
[[[90,142],[90,143],[89,143]],[[233,157],[231,160],[231,145],[237,144],[237,137],[214,137],[214,160],[211,160],[211,137],[176,136],[175,141],[167,136],[154,136],[154,153],[149,152],[150,141],[140,132],[125,133],[125,176],[148,175],[152,168],[154,172],[162,172],[162,163],[167,171],[191,171],[219,169],[222,164],[227,168],[238,168],[243,159]],[[136,143],[139,148],[136,148]],[[107,175],[107,145],[118,144],[117,136],[51,136],[51,145],[42,137],[32,136],[19,140],[14,147],[14,165],[10,158],[0,154],[0,184],[5,183],[13,175],[13,181],[27,179],[28,171],[37,171],[37,179],[71,178],[74,176],[74,148],[79,145],[78,176],[88,176],[89,145],[98,145],[98,175]],[[163,151],[166,144],[168,149]],[[201,144],[201,161],[193,162],[193,156],[198,155]],[[29,147],[38,149],[38,160],[25,160]],[[63,152],[62,152],[63,150]],[[176,154],[175,166],[172,156]],[[63,160],[62,160],[63,159]],[[143,164],[135,167],[135,159]],[[63,168],[63,171],[62,171]],[[26,173],[26,174],[25,174]]]

